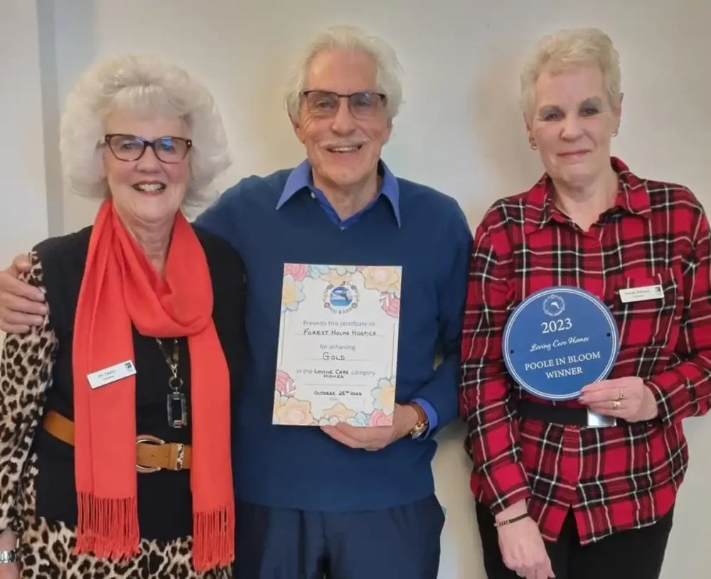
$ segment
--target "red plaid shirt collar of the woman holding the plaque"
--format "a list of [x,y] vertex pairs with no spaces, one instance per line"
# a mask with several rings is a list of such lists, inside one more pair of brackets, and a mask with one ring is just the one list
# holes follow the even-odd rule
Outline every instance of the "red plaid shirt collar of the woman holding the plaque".
[[[651,207],[649,204],[649,192],[643,181],[629,170],[619,158],[611,157],[610,163],[615,173],[619,176],[619,193],[615,200],[615,207],[620,207],[632,215],[649,218]],[[544,173],[525,195],[525,224],[526,234],[534,232],[544,227],[555,214],[559,214],[553,204],[551,193],[550,177]],[[562,217],[562,216],[560,216]]]

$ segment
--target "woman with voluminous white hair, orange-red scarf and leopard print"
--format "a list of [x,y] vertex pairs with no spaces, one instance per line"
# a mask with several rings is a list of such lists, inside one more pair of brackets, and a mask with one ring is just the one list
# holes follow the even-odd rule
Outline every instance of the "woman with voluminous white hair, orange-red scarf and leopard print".
[[243,267],[181,212],[228,165],[220,115],[184,70],[117,58],[60,146],[102,203],[21,275],[49,313],[4,344],[0,577],[231,577]]

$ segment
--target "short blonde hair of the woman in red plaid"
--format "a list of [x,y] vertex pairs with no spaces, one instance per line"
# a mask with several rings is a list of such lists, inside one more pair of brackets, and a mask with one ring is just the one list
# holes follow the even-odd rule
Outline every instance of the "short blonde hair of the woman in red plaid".
[[619,54],[612,40],[598,28],[572,28],[544,36],[535,46],[521,72],[521,108],[530,120],[535,102],[535,83],[543,71],[561,72],[582,65],[597,65],[611,107],[619,106],[621,94]]

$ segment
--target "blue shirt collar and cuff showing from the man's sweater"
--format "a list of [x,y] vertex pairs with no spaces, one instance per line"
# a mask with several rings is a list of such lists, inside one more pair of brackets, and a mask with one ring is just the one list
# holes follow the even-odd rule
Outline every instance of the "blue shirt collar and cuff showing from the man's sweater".
[[[397,227],[400,227],[400,185],[397,184],[395,175],[393,175],[390,169],[387,168],[385,162],[380,161],[378,163],[378,173],[383,178],[383,182],[381,183],[380,189],[378,190],[378,194],[375,195],[375,198],[370,201],[366,207],[355,213],[355,215],[351,215],[351,217],[342,220],[341,217],[338,216],[338,213],[336,213],[336,210],[333,209],[331,203],[328,202],[328,199],[326,199],[324,192],[319,188],[316,188],[314,185],[314,176],[311,173],[311,163],[309,163],[309,160],[306,159],[303,163],[294,168],[294,171],[292,171],[289,178],[287,178],[287,183],[284,185],[282,196],[279,197],[279,202],[277,202],[277,210],[282,207],[284,203],[289,201],[289,199],[294,197],[296,193],[299,193],[299,191],[306,188],[311,192],[311,197],[319,202],[319,205],[326,212],[326,215],[328,215],[331,221],[341,227],[341,229],[347,229],[348,227],[351,227],[351,225],[358,222],[360,217],[363,216],[365,212],[368,212],[368,210],[375,205],[375,202],[377,202],[378,198],[382,195],[390,202],[392,213],[395,216],[395,221],[397,222]],[[422,406],[422,409],[427,414],[429,429],[420,437],[422,439],[427,438],[429,433],[434,431],[439,423],[437,411],[435,411],[434,406],[429,404],[429,402],[425,399],[414,398],[412,401],[417,402],[419,406]]]

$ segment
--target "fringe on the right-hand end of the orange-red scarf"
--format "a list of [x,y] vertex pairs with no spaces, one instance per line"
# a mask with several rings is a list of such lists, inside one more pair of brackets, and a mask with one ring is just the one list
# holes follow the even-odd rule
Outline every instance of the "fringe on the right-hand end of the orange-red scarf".
[[235,509],[231,502],[210,512],[193,514],[193,565],[206,571],[235,560]]

